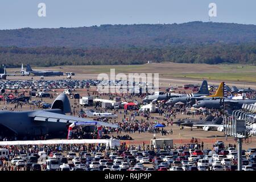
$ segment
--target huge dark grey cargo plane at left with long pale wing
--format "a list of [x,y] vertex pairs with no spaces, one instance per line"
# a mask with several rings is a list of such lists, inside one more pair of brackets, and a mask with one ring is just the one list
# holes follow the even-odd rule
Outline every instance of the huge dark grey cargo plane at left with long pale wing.
[[86,122],[90,126],[118,127],[111,123],[65,115],[71,113],[68,97],[61,93],[51,109],[27,111],[0,111],[0,125],[18,136],[65,133],[71,123]]

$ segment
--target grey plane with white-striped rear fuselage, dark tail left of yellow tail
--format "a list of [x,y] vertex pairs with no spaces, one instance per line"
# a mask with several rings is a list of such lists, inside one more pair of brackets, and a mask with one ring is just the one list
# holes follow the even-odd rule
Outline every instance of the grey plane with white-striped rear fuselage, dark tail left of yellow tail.
[[170,98],[174,97],[200,97],[200,96],[209,96],[209,90],[208,90],[208,84],[207,81],[204,80],[200,86],[199,92],[192,93],[192,94],[177,94],[177,93],[170,93],[170,94],[162,94],[162,95],[150,95],[146,96],[143,99],[143,102],[149,103],[151,101],[163,101],[163,100],[169,100]]

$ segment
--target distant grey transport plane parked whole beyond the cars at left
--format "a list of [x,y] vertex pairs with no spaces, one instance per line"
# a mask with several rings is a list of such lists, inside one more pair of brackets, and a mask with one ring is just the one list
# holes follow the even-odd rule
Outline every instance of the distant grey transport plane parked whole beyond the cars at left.
[[26,67],[26,71],[23,68],[20,69],[20,73],[23,75],[29,76],[31,73],[35,76],[63,76],[63,72],[55,72],[55,71],[33,71],[30,65],[28,64]]

